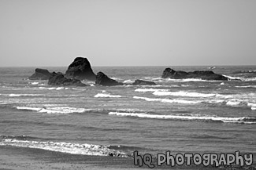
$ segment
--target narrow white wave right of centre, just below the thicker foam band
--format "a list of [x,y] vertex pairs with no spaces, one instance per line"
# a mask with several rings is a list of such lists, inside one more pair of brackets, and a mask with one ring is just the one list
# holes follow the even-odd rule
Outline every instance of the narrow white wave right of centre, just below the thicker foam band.
[[202,103],[202,100],[186,100],[186,99],[155,99],[155,98],[147,98],[147,97],[139,97],[133,96],[134,99],[145,99],[146,101],[154,102],[163,102],[163,103],[184,103],[184,104],[196,104]]

